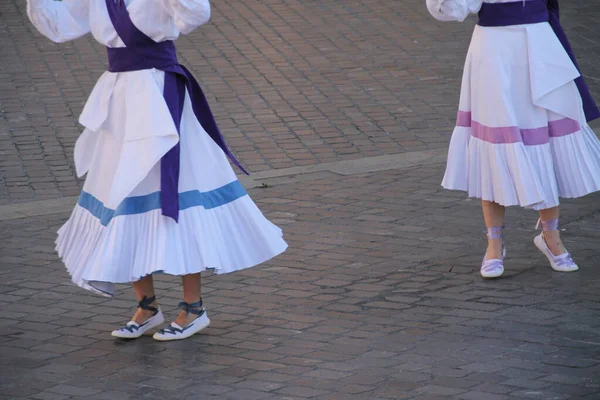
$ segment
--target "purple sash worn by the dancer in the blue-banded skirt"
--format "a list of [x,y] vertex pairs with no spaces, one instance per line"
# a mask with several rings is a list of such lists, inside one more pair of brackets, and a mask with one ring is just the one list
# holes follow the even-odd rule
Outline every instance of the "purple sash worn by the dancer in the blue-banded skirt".
[[[124,0],[106,0],[106,8],[117,34],[127,46],[106,48],[108,70],[110,72],[127,72],[156,68],[164,71],[163,96],[178,134],[180,134],[181,114],[187,88],[194,114],[200,125],[229,159],[245,174],[248,174],[227,147],[200,85],[190,71],[178,63],[177,50],[173,41],[157,43],[140,31],[131,21]],[[147,111],[152,112],[152,110]],[[171,217],[175,221],[179,220],[179,153],[180,146],[177,143],[163,156],[160,163],[162,215]]]

